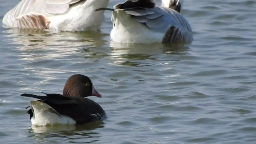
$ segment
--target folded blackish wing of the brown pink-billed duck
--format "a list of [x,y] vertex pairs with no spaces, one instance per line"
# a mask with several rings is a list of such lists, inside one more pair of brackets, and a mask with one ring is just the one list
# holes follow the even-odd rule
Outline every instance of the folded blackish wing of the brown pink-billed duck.
[[[60,94],[46,94],[46,96],[37,96],[33,94],[22,94],[23,97],[32,97],[40,99],[40,102],[48,104],[58,114],[69,116],[76,120],[76,124],[84,124],[87,122],[101,120],[106,114],[102,107],[83,97],[66,97]],[[30,118],[32,118],[32,110],[28,110]]]

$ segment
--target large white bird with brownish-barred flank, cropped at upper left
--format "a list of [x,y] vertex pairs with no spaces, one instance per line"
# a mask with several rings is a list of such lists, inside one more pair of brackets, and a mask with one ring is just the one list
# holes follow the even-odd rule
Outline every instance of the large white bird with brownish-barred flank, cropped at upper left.
[[109,0],[22,0],[3,18],[8,28],[53,31],[96,31]]

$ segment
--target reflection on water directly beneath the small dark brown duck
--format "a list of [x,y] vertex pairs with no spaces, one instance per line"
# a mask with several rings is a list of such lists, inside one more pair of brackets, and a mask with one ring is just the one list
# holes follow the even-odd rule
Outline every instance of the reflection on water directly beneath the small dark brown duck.
[[[54,125],[54,126],[31,126],[30,137],[39,142],[96,142],[100,137],[98,128],[103,128],[102,121],[90,122],[84,125]],[[94,139],[95,138],[95,139]],[[75,141],[74,141],[75,140]]]

